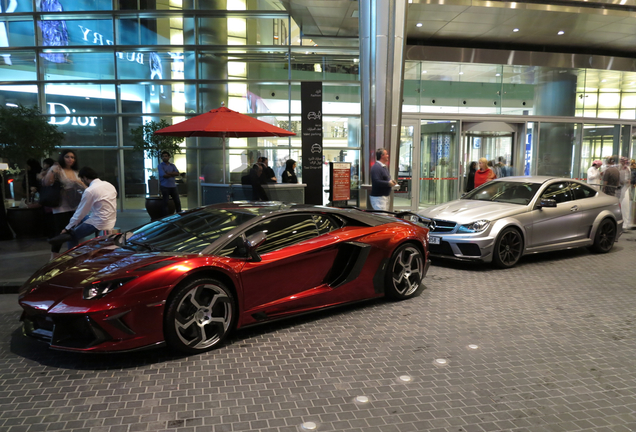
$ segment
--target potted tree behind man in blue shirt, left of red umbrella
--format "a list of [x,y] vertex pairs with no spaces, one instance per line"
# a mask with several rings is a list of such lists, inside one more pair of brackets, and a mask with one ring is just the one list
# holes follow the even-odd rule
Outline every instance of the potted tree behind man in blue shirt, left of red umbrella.
[[[170,126],[170,123],[165,119],[161,119],[158,122],[151,120],[131,129],[133,150],[144,152],[146,159],[152,159],[153,161],[157,161],[163,151],[167,151],[171,155],[181,153],[180,144],[183,142],[183,137],[155,135],[156,131],[168,126]],[[152,169],[154,170],[154,168]],[[156,188],[151,186],[154,184],[157,185]],[[153,220],[161,217],[163,210],[163,201],[159,196],[159,180],[156,180],[154,184],[149,182],[148,189],[151,196],[146,198],[146,211],[148,211],[150,218]],[[170,201],[169,211],[174,213],[172,201]]]

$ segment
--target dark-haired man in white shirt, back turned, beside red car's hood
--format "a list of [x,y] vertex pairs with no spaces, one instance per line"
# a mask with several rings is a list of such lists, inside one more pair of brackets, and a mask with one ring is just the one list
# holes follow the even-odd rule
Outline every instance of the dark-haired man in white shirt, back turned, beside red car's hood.
[[115,226],[117,219],[117,191],[115,187],[97,177],[95,170],[84,167],[77,176],[87,188],[82,194],[82,201],[75,210],[66,228],[60,235],[49,239],[51,244],[69,242],[69,246],[77,246],[84,237],[100,230],[109,230]]

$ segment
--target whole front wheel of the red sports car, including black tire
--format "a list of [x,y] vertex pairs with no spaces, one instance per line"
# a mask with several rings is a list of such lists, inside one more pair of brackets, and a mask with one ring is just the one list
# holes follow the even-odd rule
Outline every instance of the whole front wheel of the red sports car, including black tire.
[[164,335],[172,349],[196,354],[218,346],[233,330],[238,311],[230,289],[215,279],[175,288],[166,305]]

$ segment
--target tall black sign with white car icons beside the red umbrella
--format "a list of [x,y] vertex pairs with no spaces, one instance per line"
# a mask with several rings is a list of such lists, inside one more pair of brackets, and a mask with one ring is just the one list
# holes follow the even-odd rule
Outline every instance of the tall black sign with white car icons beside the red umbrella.
[[322,205],[322,83],[300,83],[305,203]]

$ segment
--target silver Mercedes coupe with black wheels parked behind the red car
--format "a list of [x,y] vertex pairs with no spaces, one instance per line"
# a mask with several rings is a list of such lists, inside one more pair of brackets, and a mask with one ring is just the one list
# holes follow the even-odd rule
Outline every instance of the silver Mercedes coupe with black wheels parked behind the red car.
[[504,177],[418,212],[432,219],[430,255],[512,267],[523,255],[587,246],[606,253],[622,233],[618,198],[576,180]]

